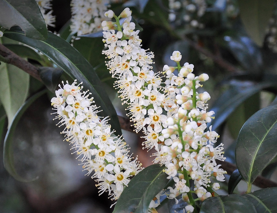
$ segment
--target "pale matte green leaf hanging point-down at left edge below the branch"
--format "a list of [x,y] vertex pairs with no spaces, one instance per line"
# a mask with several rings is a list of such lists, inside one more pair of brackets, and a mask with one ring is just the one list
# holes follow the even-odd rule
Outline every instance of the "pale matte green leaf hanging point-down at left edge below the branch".
[[0,66],[0,101],[6,111],[9,126],[27,98],[29,78],[28,73],[14,65],[2,63]]

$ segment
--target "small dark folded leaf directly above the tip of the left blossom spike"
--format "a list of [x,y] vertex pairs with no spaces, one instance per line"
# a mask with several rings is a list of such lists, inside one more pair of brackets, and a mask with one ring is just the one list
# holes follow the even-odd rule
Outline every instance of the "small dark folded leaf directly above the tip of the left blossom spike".
[[40,67],[39,69],[40,78],[42,79],[45,86],[53,93],[57,88],[59,83],[60,76],[63,73],[63,70],[60,68],[54,67]]

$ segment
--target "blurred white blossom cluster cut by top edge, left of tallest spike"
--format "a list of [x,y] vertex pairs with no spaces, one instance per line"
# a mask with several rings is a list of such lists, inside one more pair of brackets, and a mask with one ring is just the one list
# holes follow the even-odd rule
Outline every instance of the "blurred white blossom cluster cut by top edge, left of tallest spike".
[[107,20],[108,0],[72,0],[70,30],[77,35],[97,32],[102,29],[101,23]]

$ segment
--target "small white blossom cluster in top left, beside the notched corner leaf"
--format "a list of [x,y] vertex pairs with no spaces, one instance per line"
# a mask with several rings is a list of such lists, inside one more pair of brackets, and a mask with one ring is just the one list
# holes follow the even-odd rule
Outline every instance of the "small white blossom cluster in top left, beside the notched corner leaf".
[[40,8],[40,12],[43,16],[43,19],[47,26],[55,27],[56,17],[52,15],[52,4],[50,3],[51,0],[36,0],[37,5]]

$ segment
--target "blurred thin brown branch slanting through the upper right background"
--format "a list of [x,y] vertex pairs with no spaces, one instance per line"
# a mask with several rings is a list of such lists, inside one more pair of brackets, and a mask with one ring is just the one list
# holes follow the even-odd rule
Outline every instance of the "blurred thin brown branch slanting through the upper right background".
[[224,58],[222,58],[220,55],[214,55],[213,53],[211,53],[210,51],[208,51],[207,49],[204,49],[202,46],[200,46],[199,44],[197,44],[196,42],[190,40],[189,38],[187,38],[186,36],[182,35],[181,38],[184,41],[187,41],[189,43],[190,46],[192,46],[194,49],[196,49],[197,51],[201,52],[202,54],[206,55],[208,58],[211,58],[214,62],[216,62],[220,67],[228,70],[229,72],[232,73],[241,73],[241,70],[237,69],[237,67],[233,66],[232,64],[230,64],[228,61],[226,61]]

